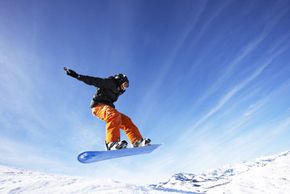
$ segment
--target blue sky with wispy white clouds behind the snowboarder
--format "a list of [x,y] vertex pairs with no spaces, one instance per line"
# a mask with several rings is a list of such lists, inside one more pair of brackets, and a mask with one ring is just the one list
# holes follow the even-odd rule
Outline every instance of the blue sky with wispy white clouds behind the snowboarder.
[[[2,0],[0,164],[156,183],[289,150],[289,22],[287,0]],[[163,146],[78,163],[105,124],[64,66],[128,75],[116,107]]]

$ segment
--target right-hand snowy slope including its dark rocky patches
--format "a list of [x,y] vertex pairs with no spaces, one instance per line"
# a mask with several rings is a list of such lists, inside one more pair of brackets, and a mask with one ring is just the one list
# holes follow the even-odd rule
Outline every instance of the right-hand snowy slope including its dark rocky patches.
[[159,190],[192,193],[290,193],[290,152],[263,157],[254,162],[225,166],[201,174],[179,173],[153,185]]

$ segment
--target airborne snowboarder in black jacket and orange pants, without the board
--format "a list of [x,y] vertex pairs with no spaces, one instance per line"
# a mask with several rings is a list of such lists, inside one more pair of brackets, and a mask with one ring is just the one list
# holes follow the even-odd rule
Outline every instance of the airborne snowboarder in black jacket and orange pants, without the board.
[[120,141],[120,128],[124,130],[133,147],[147,146],[150,139],[143,139],[139,129],[132,120],[115,109],[114,102],[129,87],[128,77],[122,73],[108,78],[80,75],[75,71],[64,68],[66,74],[97,88],[90,107],[92,114],[106,122],[106,148],[118,150],[126,148],[128,143]]

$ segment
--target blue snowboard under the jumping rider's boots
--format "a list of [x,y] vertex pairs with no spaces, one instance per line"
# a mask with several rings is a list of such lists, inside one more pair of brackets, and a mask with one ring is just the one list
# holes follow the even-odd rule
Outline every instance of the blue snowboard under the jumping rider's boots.
[[161,144],[151,144],[144,147],[125,148],[120,150],[109,151],[86,151],[78,155],[78,160],[81,163],[100,162],[114,158],[121,158],[125,156],[133,156],[139,154],[148,154],[158,148]]

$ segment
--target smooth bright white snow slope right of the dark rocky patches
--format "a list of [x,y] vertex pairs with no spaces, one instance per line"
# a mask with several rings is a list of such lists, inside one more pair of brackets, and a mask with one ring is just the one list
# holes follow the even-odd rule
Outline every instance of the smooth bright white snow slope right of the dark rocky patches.
[[245,173],[234,176],[230,184],[208,193],[290,193],[290,153],[268,158],[265,166],[253,165]]

